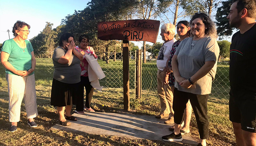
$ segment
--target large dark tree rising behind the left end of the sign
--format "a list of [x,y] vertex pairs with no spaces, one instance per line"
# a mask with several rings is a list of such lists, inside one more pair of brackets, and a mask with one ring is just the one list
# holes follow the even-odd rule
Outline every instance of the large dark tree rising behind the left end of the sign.
[[97,22],[122,20],[130,11],[134,0],[92,0],[81,11],[76,11],[62,19],[61,32],[71,32],[76,43],[81,34],[87,34],[90,44],[97,54],[108,52],[116,40],[102,41],[97,38]]

